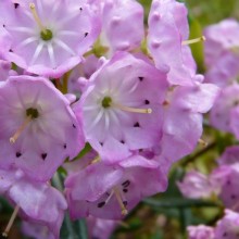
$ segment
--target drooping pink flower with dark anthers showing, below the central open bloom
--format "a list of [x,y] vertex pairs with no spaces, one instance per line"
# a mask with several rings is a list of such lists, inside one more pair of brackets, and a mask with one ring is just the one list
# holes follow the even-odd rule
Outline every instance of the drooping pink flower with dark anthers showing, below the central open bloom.
[[[140,155],[120,164],[105,164],[102,160],[71,174],[65,181],[71,217],[121,219],[143,197],[166,189],[167,167],[159,162]],[[79,187],[83,180],[87,184]]]

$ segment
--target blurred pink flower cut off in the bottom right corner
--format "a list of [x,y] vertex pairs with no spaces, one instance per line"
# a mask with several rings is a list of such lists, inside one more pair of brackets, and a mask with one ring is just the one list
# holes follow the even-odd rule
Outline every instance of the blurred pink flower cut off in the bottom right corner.
[[215,239],[238,239],[239,214],[230,210],[225,210],[225,216],[217,222],[214,232]]

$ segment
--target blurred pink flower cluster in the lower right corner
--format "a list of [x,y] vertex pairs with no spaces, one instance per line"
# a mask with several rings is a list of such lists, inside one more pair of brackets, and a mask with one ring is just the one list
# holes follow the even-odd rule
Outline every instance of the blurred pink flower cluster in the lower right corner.
[[184,180],[178,183],[185,197],[199,199],[217,196],[225,206],[225,215],[215,227],[204,225],[188,227],[190,239],[238,238],[238,146],[229,147],[217,160],[218,166],[210,175],[189,172]]

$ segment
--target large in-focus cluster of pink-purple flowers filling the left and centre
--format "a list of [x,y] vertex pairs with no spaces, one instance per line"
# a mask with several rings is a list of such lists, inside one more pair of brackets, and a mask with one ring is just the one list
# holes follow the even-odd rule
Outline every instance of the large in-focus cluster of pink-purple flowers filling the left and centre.
[[[204,37],[188,40],[185,4],[153,0],[148,26],[135,0],[9,0],[0,12],[0,192],[13,217],[59,238],[66,207],[122,219],[164,191],[218,93],[197,75],[189,45]],[[51,186],[59,167],[66,199]]]

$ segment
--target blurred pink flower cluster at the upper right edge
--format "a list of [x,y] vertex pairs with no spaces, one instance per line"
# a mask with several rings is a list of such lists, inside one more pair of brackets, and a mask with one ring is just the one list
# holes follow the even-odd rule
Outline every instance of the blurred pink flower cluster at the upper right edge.
[[205,28],[205,81],[222,88],[210,114],[211,124],[239,138],[239,23],[224,20]]

